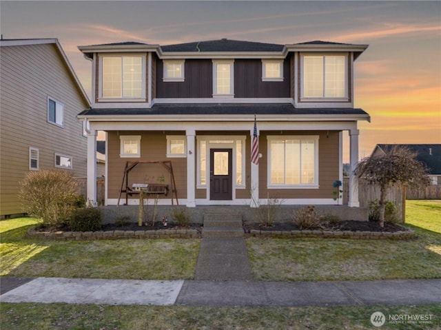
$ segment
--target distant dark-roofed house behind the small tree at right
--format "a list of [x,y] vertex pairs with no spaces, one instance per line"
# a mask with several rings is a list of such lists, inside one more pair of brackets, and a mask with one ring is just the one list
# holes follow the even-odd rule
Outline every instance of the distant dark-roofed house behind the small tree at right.
[[[418,161],[423,163],[429,169],[431,185],[441,185],[441,144],[398,144],[409,148],[417,154]],[[396,144],[378,144],[373,149],[372,155],[384,153]]]

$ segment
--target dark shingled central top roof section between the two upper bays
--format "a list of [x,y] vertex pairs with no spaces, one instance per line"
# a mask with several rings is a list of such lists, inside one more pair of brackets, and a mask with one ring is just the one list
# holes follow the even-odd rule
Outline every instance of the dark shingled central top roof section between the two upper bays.
[[282,52],[285,45],[229,39],[161,46],[163,52]]

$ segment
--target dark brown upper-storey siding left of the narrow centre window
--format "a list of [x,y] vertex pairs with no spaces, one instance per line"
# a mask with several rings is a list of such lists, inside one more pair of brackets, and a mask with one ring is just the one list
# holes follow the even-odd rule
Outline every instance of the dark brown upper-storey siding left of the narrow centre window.
[[213,63],[210,59],[186,59],[185,81],[164,82],[163,61],[156,61],[156,97],[211,98],[213,96]]

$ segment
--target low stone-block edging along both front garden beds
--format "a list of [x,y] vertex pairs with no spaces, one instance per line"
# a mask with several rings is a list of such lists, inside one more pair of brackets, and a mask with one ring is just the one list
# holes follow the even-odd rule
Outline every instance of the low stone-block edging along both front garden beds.
[[[48,240],[117,240],[122,238],[202,238],[200,229],[158,229],[158,230],[112,230],[112,231],[36,231],[28,229],[28,236]],[[245,233],[245,238],[348,238],[358,240],[407,240],[415,238],[415,231],[325,231],[325,230],[291,230],[269,231],[251,229]]]

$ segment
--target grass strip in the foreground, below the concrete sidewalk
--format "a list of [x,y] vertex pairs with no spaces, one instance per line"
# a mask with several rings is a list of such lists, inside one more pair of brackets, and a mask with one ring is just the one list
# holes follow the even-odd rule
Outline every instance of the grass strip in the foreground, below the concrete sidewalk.
[[[430,324],[374,328],[375,311],[389,315],[433,315]],[[2,329],[439,329],[440,305],[362,307],[152,307],[69,304],[1,304]]]

